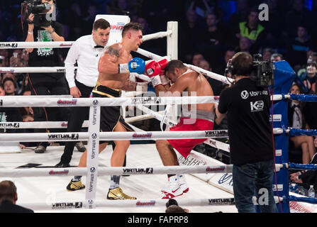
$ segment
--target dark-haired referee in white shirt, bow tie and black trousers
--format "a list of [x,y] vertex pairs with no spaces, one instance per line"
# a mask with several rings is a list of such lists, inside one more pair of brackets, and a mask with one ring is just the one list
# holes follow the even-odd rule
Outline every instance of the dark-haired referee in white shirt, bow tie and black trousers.
[[[84,35],[77,39],[69,49],[65,59],[66,79],[70,94],[74,98],[89,98],[98,79],[99,58],[106,49],[110,35],[110,23],[104,19],[94,22],[91,35]],[[77,74],[74,75],[74,64],[77,63]],[[69,114],[67,132],[78,132],[82,123],[88,118],[89,107],[72,107]],[[76,141],[65,143],[64,153],[55,167],[69,167]],[[82,145],[84,148],[84,146]],[[83,150],[79,150],[84,152]]]

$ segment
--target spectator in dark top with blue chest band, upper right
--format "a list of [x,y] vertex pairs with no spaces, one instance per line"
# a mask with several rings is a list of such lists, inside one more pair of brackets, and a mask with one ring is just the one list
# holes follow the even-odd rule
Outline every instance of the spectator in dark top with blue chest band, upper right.
[[307,27],[304,25],[297,27],[297,36],[289,47],[288,60],[290,65],[297,71],[306,63],[307,52],[311,47],[311,38],[308,35]]

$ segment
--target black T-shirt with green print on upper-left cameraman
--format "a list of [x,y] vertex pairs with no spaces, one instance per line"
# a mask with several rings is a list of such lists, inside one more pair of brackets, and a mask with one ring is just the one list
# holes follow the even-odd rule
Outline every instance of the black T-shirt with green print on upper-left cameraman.
[[[64,29],[62,24],[57,21],[52,21],[52,28],[55,29],[55,33],[60,36],[64,36]],[[23,40],[26,40],[28,35],[28,24],[23,26]],[[33,30],[34,42],[54,41],[52,36],[44,28],[38,26]],[[57,67],[63,66],[59,57],[59,48],[34,48],[33,52],[29,53],[28,66],[30,67]]]

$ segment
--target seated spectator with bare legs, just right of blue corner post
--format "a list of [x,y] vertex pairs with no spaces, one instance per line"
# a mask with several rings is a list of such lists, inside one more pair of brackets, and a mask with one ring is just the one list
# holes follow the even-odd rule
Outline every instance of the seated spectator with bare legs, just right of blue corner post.
[[[291,86],[291,94],[303,94],[299,84],[293,84]],[[289,116],[289,126],[292,128],[308,129],[308,124],[306,123],[304,114],[304,102],[291,100],[289,101],[288,116]],[[316,150],[313,145],[313,137],[307,135],[290,136],[289,137],[289,147],[291,148],[301,148],[303,164],[308,164],[313,155],[315,155]],[[299,161],[300,162],[300,161]]]

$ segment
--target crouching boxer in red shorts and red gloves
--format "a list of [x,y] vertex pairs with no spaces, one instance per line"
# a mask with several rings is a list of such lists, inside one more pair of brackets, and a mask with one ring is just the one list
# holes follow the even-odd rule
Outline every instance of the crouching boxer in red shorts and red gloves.
[[[163,71],[164,70],[164,71]],[[164,72],[164,73],[163,73]],[[213,96],[213,89],[207,79],[200,73],[189,70],[180,60],[152,61],[145,66],[145,73],[150,77],[157,96]],[[170,80],[170,81],[169,81]],[[172,82],[172,86],[170,86]],[[209,131],[213,129],[215,117],[213,104],[191,104],[176,126],[170,131]],[[160,153],[163,165],[179,165],[177,150],[185,158],[191,150],[206,139],[157,140],[156,148]],[[162,199],[171,199],[188,192],[183,175],[167,175],[169,185],[162,190]]]

